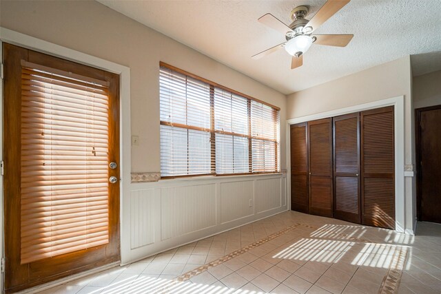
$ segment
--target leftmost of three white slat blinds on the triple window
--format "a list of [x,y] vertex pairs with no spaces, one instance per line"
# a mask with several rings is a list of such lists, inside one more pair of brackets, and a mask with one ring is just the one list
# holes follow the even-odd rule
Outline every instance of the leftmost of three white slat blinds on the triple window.
[[161,174],[211,174],[209,85],[161,67]]

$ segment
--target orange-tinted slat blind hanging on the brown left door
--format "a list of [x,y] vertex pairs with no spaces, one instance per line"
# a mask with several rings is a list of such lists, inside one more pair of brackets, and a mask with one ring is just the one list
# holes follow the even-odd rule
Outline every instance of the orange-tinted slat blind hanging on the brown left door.
[[105,82],[25,63],[21,264],[109,242]]

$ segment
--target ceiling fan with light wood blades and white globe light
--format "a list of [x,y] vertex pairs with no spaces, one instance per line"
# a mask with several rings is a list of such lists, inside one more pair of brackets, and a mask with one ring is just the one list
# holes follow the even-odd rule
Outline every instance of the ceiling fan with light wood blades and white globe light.
[[293,22],[290,25],[285,25],[285,23],[270,13],[265,14],[263,17],[260,17],[258,21],[284,34],[287,41],[252,56],[252,59],[260,59],[280,48],[285,48],[292,56],[292,70],[303,64],[303,54],[307,52],[313,43],[345,47],[351,41],[353,34],[312,33],[314,30],[317,30],[322,23],[325,23],[325,21],[336,14],[338,10],[349,3],[349,1],[351,0],[328,0],[310,21],[305,19],[308,13],[307,6],[298,6],[291,10],[291,19]]

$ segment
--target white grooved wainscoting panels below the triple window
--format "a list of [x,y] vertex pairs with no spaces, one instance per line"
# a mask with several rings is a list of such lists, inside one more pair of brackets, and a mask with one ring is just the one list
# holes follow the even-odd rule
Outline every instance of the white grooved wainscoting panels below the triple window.
[[122,247],[121,263],[285,211],[286,186],[283,174],[132,183],[130,216],[123,216],[130,246]]

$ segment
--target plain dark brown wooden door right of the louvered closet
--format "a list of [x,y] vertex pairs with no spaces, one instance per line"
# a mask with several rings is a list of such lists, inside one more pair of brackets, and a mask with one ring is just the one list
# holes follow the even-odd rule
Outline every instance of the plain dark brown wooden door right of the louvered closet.
[[417,110],[419,219],[441,223],[441,105]]

